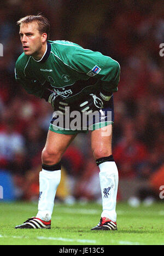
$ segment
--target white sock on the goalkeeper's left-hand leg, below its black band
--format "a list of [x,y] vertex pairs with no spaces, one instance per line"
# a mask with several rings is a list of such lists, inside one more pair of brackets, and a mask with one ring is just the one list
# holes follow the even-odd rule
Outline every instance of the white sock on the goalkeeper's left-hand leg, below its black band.
[[39,202],[37,218],[49,222],[54,208],[56,190],[61,179],[61,170],[39,173]]

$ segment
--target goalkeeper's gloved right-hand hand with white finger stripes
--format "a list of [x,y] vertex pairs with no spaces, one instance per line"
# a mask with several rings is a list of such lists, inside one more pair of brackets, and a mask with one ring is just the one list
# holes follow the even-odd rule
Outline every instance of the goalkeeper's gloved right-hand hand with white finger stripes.
[[80,103],[79,109],[80,112],[90,114],[95,110],[101,110],[102,108],[107,106],[108,101],[110,100],[110,96],[103,95],[101,92],[99,94],[90,94],[86,101]]

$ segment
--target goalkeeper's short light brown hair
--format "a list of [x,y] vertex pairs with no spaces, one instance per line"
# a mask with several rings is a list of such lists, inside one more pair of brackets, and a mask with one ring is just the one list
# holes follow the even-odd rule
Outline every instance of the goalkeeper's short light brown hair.
[[50,23],[49,20],[46,19],[43,15],[28,15],[24,18],[21,18],[19,21],[17,21],[17,25],[21,24],[28,24],[33,21],[36,21],[38,24],[38,31],[40,34],[46,33],[49,39],[50,36]]

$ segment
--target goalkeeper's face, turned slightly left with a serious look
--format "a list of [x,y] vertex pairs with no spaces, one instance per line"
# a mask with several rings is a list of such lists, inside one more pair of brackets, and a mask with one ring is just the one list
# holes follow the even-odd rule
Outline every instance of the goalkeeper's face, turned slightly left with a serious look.
[[38,56],[42,52],[43,40],[37,22],[21,24],[19,34],[26,55]]

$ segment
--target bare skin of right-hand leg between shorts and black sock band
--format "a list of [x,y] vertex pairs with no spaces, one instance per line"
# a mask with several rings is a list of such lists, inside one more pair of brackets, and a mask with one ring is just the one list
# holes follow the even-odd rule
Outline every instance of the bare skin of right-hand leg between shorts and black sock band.
[[95,159],[112,155],[112,124],[92,131],[91,147]]

